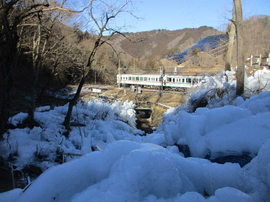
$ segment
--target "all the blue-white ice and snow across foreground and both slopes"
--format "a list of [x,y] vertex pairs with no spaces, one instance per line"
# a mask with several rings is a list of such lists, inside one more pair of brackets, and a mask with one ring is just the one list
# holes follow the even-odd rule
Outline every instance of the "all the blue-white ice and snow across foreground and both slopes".
[[[36,112],[42,127],[10,130],[6,138],[12,146],[1,142],[0,153],[8,157],[18,150],[16,165],[22,168],[37,150],[45,156],[41,165],[51,168],[24,190],[1,193],[0,199],[270,201],[270,71],[259,70],[246,79],[247,94],[264,92],[245,100],[235,99],[234,72],[226,75],[228,82],[223,77],[209,80],[184,106],[169,109],[157,131],[146,136],[134,128],[134,106],[128,102],[78,104],[72,122],[86,126],[73,126],[68,138],[61,125],[67,106]],[[200,108],[197,100],[206,107]],[[10,121],[16,125],[25,116]],[[91,152],[101,142],[101,150]],[[176,145],[188,146],[191,157],[184,158]],[[57,149],[85,155],[53,166]],[[253,158],[243,168],[204,159],[241,155]]]

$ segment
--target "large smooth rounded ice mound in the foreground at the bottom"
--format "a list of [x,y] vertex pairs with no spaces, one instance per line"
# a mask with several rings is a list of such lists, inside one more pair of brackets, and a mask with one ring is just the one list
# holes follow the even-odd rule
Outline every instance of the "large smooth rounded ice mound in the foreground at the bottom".
[[18,201],[206,201],[203,194],[215,194],[207,201],[251,201],[256,190],[246,180],[238,164],[185,159],[122,140],[48,169]]

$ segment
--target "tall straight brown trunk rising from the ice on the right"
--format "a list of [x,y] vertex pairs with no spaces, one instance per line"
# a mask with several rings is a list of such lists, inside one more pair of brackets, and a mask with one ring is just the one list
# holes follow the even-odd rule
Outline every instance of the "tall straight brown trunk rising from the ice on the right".
[[244,36],[243,36],[243,15],[241,0],[234,0],[236,11],[236,37],[237,37],[237,81],[236,95],[241,96],[244,93],[245,78],[245,60],[244,60]]

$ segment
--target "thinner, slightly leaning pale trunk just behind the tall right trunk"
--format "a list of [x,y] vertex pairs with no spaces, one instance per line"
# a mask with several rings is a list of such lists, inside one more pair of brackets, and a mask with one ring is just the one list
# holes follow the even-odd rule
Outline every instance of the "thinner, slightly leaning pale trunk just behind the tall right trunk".
[[[235,6],[233,8],[233,21],[236,20]],[[229,25],[229,41],[228,41],[228,49],[226,54],[226,63],[225,63],[225,72],[230,71],[230,63],[232,62],[232,52],[234,47],[234,40],[236,35],[236,27],[234,23]]]

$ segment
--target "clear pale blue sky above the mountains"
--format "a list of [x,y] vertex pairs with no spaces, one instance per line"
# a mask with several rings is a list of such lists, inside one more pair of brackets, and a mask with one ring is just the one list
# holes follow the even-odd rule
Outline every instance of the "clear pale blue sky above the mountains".
[[[233,0],[136,0],[135,12],[143,20],[125,16],[128,32],[153,29],[183,29],[211,26],[224,29],[232,17]],[[242,0],[244,18],[253,15],[270,15],[270,0]],[[115,19],[115,23],[123,23]]]

